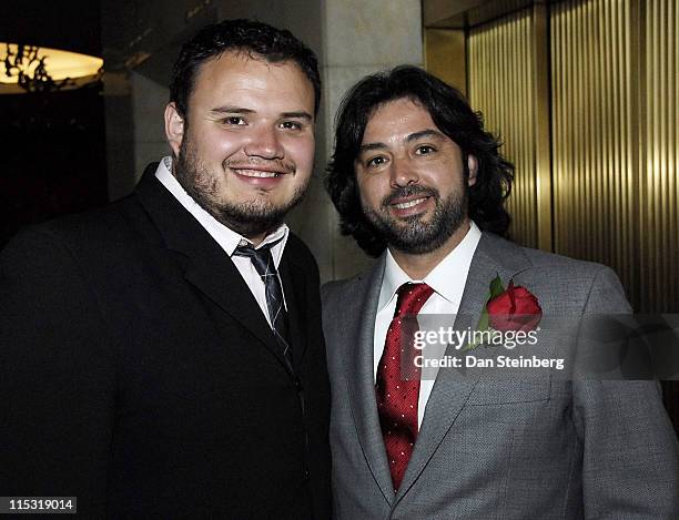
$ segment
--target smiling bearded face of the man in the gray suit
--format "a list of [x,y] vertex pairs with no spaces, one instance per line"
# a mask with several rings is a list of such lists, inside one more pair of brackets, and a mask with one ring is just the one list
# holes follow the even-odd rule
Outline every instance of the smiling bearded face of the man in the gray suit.
[[476,159],[409,99],[378,106],[368,119],[354,163],[361,204],[389,247],[406,254],[452,249],[468,228],[468,186]]

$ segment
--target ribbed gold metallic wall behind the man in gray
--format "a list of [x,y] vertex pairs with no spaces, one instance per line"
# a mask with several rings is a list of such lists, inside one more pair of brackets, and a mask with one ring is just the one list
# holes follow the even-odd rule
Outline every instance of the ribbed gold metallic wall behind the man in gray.
[[679,312],[678,3],[536,1],[467,37],[514,238],[614,267],[640,312]]

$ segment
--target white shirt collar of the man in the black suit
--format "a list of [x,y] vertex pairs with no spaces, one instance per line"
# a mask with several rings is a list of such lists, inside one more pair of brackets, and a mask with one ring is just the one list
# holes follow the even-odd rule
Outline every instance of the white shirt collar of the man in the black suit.
[[[232,256],[235,248],[239,245],[252,245],[252,242],[244,236],[240,235],[235,231],[225,226],[207,213],[197,202],[195,202],[191,195],[182,187],[179,181],[172,175],[172,157],[165,156],[159,163],[155,170],[155,176],[165,188],[178,200],[178,202],[186,208],[191,215],[205,228],[210,236],[212,236],[216,243],[226,252],[229,256]],[[287,243],[287,236],[290,228],[286,224],[281,224],[276,231],[266,235],[257,249],[266,244],[280,241],[276,245],[272,246],[271,254],[274,258],[276,268],[281,263],[283,256],[283,249]]]

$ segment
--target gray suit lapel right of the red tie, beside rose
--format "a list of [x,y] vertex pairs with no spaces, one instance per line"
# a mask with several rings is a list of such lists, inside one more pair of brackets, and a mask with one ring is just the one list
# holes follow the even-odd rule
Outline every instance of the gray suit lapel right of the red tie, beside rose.
[[[476,328],[488,298],[490,281],[495,276],[499,274],[506,285],[509,278],[528,267],[528,259],[520,248],[495,235],[484,233],[472,259],[465,290],[455,319],[455,329],[470,328],[474,330]],[[452,347],[448,348],[453,349]],[[447,351],[446,354],[453,355],[454,353]],[[450,368],[438,370],[427,401],[417,442],[402,486],[398,489],[396,501],[403,498],[423,472],[444,437],[453,427],[477,383],[477,380],[465,379]]]

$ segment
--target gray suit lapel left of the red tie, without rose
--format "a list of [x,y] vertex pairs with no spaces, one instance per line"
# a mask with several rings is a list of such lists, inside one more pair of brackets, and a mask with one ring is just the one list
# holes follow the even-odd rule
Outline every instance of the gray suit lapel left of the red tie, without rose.
[[367,276],[357,281],[357,287],[349,287],[344,298],[352,306],[347,310],[353,309],[353,319],[347,322],[346,327],[349,350],[345,357],[345,367],[352,412],[363,455],[382,493],[392,503],[394,488],[377,416],[373,369],[375,315],[384,265],[383,255]]

